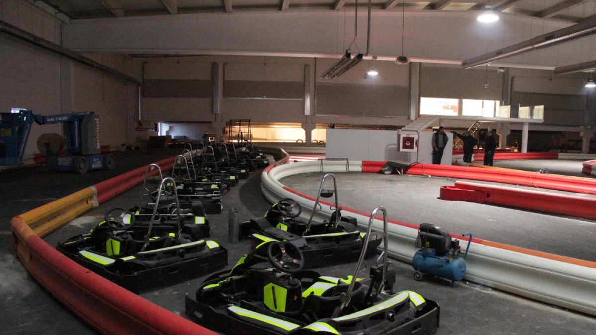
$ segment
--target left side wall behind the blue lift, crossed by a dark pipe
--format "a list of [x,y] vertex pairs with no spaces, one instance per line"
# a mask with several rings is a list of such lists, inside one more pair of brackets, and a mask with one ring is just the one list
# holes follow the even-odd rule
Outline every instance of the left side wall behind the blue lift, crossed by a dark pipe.
[[[0,20],[60,45],[64,21],[19,0],[0,2]],[[116,70],[133,71],[132,60],[120,55],[95,56]],[[136,85],[0,33],[0,111],[11,107],[49,115],[95,111],[100,116],[102,145],[117,147],[147,138],[135,133]],[[38,153],[37,139],[46,132],[62,133],[59,123],[33,124],[24,152],[27,163]],[[140,135],[140,136],[137,136]],[[138,138],[137,138],[138,137]]]

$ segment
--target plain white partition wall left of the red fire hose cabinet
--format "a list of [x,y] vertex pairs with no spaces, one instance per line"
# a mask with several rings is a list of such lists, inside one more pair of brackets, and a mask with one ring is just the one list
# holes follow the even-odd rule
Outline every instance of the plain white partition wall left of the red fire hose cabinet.
[[327,129],[327,158],[350,160],[396,159],[398,131]]

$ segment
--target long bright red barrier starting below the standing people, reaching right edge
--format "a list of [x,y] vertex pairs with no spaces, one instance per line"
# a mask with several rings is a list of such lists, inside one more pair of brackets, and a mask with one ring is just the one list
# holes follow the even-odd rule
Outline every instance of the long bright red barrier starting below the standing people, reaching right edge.
[[596,194],[596,179],[509,169],[484,169],[471,166],[415,164],[406,170],[411,175],[431,175],[471,180],[527,185],[552,190]]

